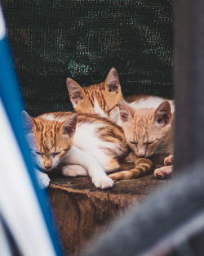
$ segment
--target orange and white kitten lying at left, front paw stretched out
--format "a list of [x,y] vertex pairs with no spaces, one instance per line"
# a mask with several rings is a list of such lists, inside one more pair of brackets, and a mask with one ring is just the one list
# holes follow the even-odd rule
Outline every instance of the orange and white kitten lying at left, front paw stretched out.
[[[113,186],[113,180],[106,173],[117,171],[119,160],[129,153],[122,128],[117,124],[95,115],[77,116],[71,112],[32,118],[23,111],[22,116],[35,162],[40,168],[46,172],[62,168],[65,176],[89,175],[93,184],[101,189]],[[131,176],[138,177],[151,168],[149,159],[140,160]],[[47,174],[39,171],[38,179],[42,187],[50,182]]]

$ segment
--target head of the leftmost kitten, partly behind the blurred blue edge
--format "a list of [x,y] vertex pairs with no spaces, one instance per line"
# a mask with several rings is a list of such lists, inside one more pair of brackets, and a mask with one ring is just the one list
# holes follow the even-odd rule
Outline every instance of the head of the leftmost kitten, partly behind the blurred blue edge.
[[26,137],[33,159],[45,171],[57,167],[72,146],[72,138],[77,124],[77,115],[64,122],[31,118],[23,111]]

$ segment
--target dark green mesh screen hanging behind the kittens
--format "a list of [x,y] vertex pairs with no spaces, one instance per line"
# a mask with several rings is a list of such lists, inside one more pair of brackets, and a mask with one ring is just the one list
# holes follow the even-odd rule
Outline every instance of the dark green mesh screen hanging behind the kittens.
[[31,115],[71,110],[65,80],[118,70],[122,92],[172,96],[173,0],[2,0]]

